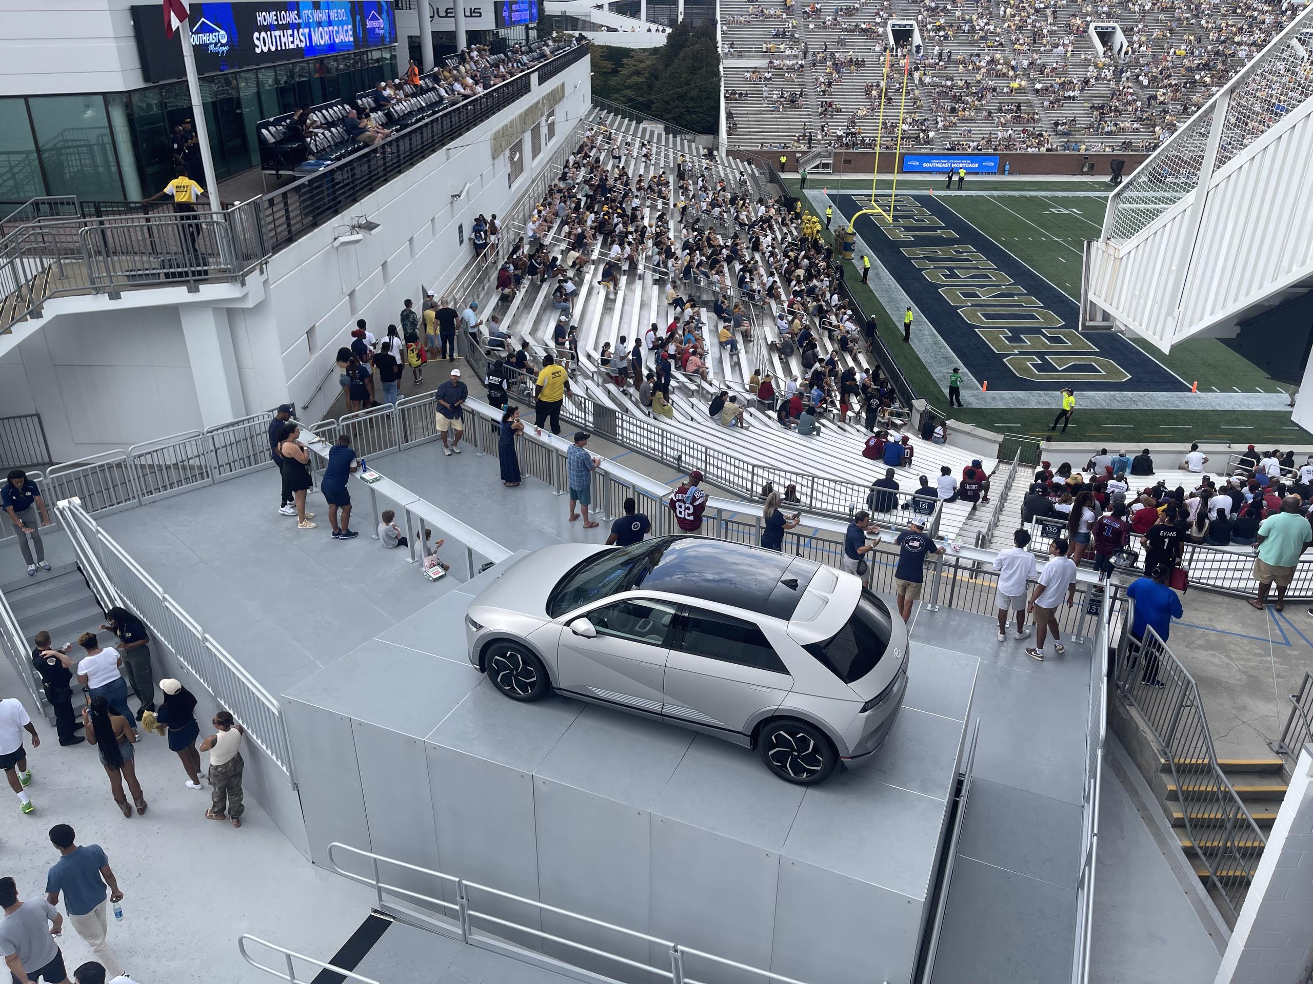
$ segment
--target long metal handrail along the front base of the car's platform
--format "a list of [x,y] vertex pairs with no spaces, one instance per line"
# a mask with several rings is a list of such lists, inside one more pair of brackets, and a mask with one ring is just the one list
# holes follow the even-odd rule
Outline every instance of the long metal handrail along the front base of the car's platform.
[[[337,863],[337,859],[334,857],[334,849],[341,849],[344,851],[355,854],[356,857],[368,858],[374,872],[373,878],[369,878],[366,875],[360,875],[356,874],[355,871],[348,871],[347,869],[344,869],[340,863]],[[381,912],[386,912],[387,914],[394,916],[397,918],[404,920],[407,912],[390,909],[383,899],[385,893],[406,896],[410,900],[421,903],[424,905],[437,907],[439,909],[446,912],[454,911],[460,928],[461,941],[466,943],[474,943],[475,946],[481,945],[482,942],[481,935],[475,932],[477,928],[474,925],[475,921],[479,921],[491,924],[494,926],[500,926],[504,929],[513,929],[517,933],[527,933],[538,939],[549,939],[554,943],[561,943],[562,946],[569,946],[574,950],[582,950],[583,953],[592,954],[593,956],[600,956],[603,959],[609,959],[616,963],[633,967],[635,970],[655,974],[663,979],[671,980],[672,984],[702,984],[701,981],[697,981],[695,977],[685,975],[684,972],[685,954],[700,956],[702,959],[712,960],[713,963],[723,964],[726,967],[734,967],[737,970],[746,971],[748,974],[756,974],[769,980],[780,981],[781,984],[804,984],[804,981],[800,981],[794,977],[786,977],[784,975],[773,974],[772,971],[760,967],[751,967],[744,963],[738,963],[737,960],[730,960],[727,958],[706,953],[705,950],[697,950],[693,947],[681,946],[678,942],[663,939],[660,937],[654,937],[649,933],[643,933],[637,929],[629,929],[628,926],[620,926],[616,925],[614,922],[607,922],[605,920],[599,920],[592,916],[584,916],[580,912],[563,909],[558,905],[549,905],[548,903],[538,901],[537,899],[528,899],[523,895],[516,895],[513,892],[507,892],[500,888],[495,888],[492,886],[482,884],[479,882],[473,882],[470,879],[461,878],[458,875],[453,875],[446,871],[437,871],[435,869],[427,869],[420,865],[411,865],[410,862],[406,861],[390,858],[386,854],[376,854],[374,851],[361,850],[360,848],[353,848],[349,844],[343,844],[340,841],[334,841],[332,844],[328,845],[328,863],[332,866],[334,871],[336,871],[339,875],[343,875],[344,878],[348,878],[352,882],[357,882],[360,884],[369,886],[370,888],[373,888],[378,901],[377,908]],[[393,865],[395,867],[400,867],[407,871],[414,871],[420,875],[427,875],[437,879],[442,884],[454,884],[457,890],[457,901],[453,904],[446,901],[445,899],[437,899],[429,895],[424,895],[423,892],[416,892],[411,888],[402,888],[400,886],[389,884],[383,882],[382,875],[379,874],[378,870],[379,863]],[[498,899],[506,899],[507,901],[513,901],[520,905],[527,905],[538,912],[550,912],[553,914],[563,916],[570,920],[586,922],[591,926],[597,926],[599,929],[611,930],[630,939],[638,939],[646,943],[653,943],[655,946],[663,947],[670,955],[671,967],[670,970],[666,970],[663,967],[654,967],[650,962],[643,963],[639,960],[633,960],[628,956],[621,956],[620,954],[611,953],[609,950],[601,950],[599,947],[588,946],[586,943],[580,943],[578,941],[569,939],[562,935],[546,933],[541,929],[537,929],[534,926],[528,926],[523,922],[515,922],[513,920],[507,920],[500,916],[494,916],[490,912],[481,912],[479,909],[473,908],[470,904],[470,890],[474,890],[477,892],[486,892],[487,895],[492,895]],[[541,956],[515,943],[509,943],[500,939],[498,941],[498,943],[499,943],[498,947],[499,950],[502,950],[503,953],[509,953],[512,956],[516,956],[517,959]]]

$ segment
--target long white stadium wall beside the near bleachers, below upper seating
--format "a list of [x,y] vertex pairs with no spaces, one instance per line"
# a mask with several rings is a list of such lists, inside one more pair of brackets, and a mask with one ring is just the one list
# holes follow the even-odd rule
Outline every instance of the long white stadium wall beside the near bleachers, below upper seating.
[[[544,88],[534,85],[453,146],[276,253],[244,286],[47,302],[45,318],[16,329],[25,337],[0,357],[0,416],[41,413],[55,461],[284,401],[295,403],[302,420],[319,419],[339,395],[336,379],[323,383],[356,319],[382,333],[398,321],[406,298],[419,307],[425,289],[441,291],[454,279],[473,258],[474,216],[503,211],[588,112],[588,75],[586,58]],[[494,159],[488,139],[558,85],[563,98],[553,110],[555,139],[544,139],[532,157],[525,136],[524,173],[508,188],[508,155]],[[469,190],[453,202],[466,184]],[[358,244],[335,248],[335,224],[355,215],[368,215],[379,228]]]

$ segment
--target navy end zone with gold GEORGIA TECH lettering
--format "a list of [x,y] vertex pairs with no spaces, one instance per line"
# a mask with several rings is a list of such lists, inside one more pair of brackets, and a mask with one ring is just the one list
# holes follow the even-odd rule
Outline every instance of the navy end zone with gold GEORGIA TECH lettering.
[[[844,215],[861,210],[852,195],[830,197]],[[930,320],[922,331],[934,328],[990,392],[1188,388],[1120,335],[1077,331],[1077,302],[934,197],[892,206],[889,219],[856,219],[857,235]]]

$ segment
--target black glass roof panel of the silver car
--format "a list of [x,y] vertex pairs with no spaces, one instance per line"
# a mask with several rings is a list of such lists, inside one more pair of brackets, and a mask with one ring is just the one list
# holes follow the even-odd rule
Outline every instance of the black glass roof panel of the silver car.
[[634,590],[664,592],[788,622],[815,576],[814,560],[706,537],[651,541],[651,569]]

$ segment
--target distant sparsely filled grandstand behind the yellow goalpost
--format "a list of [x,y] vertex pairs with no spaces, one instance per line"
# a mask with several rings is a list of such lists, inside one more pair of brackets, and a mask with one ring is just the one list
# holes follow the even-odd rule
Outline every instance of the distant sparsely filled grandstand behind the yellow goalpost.
[[[977,0],[722,0],[723,85],[743,93],[726,102],[731,143],[873,148],[885,25],[898,18],[915,20],[923,42],[911,55],[905,150],[1149,151],[1299,7],[1270,0],[1018,0],[998,7]],[[1095,49],[1088,35],[1094,20],[1121,28],[1121,60]],[[894,60],[901,63],[903,54]],[[901,67],[889,72],[881,143],[888,150],[898,134],[901,80]],[[789,92],[801,94],[800,108],[780,98]],[[821,113],[825,101],[835,104],[834,113]]]

